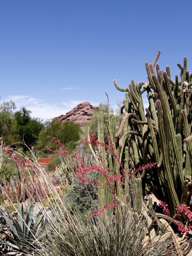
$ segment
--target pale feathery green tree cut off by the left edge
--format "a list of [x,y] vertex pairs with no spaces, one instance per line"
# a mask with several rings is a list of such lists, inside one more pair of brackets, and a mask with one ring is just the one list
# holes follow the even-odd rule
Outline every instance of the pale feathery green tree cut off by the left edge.
[[0,105],[0,136],[5,145],[13,143],[15,103],[11,100]]

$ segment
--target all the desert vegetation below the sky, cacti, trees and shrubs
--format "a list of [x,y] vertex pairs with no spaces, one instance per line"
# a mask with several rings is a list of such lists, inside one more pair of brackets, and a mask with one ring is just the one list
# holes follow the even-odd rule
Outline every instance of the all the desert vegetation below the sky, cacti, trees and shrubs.
[[[125,93],[120,113],[100,104],[86,134],[74,123],[43,124],[26,108],[14,113],[13,102],[3,103],[2,255],[189,253],[192,73],[184,57],[180,78],[172,78],[169,66],[160,69],[159,55],[146,62],[148,81],[121,88],[114,80]],[[40,166],[42,154],[55,162]]]

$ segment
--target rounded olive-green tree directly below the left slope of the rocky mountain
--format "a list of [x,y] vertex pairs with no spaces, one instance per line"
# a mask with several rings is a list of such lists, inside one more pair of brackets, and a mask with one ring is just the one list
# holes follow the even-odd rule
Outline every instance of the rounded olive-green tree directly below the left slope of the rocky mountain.
[[71,151],[75,148],[76,142],[81,135],[80,125],[71,121],[60,122],[57,119],[47,120],[39,135],[39,145],[42,149],[45,146],[56,148],[52,138],[58,138],[66,148]]

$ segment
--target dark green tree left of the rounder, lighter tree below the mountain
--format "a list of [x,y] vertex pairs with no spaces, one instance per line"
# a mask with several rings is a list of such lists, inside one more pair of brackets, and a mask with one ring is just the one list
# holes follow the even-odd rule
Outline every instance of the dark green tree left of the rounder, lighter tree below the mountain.
[[21,108],[19,111],[15,112],[16,128],[15,135],[18,136],[20,142],[25,142],[22,144],[23,153],[26,153],[28,147],[35,146],[38,141],[38,136],[43,128],[43,123],[39,118],[32,118],[31,111],[26,110],[25,107]]

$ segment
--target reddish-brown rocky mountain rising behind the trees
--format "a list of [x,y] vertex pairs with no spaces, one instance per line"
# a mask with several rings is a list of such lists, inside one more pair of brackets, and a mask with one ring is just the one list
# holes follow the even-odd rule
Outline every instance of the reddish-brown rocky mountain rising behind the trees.
[[66,115],[57,116],[56,118],[60,121],[73,121],[83,126],[88,120],[92,120],[93,111],[96,106],[92,106],[88,101],[83,101],[74,107],[71,111],[67,112]]

